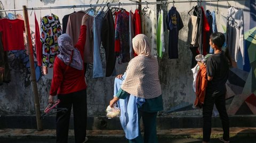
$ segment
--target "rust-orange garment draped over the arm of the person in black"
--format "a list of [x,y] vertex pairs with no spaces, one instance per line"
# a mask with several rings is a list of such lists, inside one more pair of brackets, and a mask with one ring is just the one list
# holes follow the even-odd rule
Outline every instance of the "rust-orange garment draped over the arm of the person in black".
[[207,86],[206,66],[201,65],[196,77],[196,100],[195,107],[202,108],[204,104],[205,91]]

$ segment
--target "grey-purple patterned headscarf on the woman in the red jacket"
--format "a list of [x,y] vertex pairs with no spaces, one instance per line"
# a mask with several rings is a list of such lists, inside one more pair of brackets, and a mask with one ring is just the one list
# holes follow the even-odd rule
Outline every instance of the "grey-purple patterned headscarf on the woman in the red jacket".
[[58,57],[60,60],[63,61],[66,65],[69,65],[77,70],[83,70],[83,60],[81,54],[77,48],[72,46],[72,40],[70,36],[66,33],[62,34],[58,38],[58,44],[60,51]]

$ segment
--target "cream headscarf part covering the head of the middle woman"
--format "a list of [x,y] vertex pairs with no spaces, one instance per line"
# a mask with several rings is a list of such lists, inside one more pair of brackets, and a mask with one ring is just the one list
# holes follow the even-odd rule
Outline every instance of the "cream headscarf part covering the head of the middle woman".
[[139,34],[132,39],[134,52],[138,55],[151,56],[151,47],[146,35]]

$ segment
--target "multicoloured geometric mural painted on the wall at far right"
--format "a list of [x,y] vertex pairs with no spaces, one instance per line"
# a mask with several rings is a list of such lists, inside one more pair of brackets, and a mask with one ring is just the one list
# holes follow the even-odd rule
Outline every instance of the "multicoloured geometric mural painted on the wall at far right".
[[[229,78],[226,83],[226,107],[229,115],[251,115],[256,114],[256,2],[247,1],[245,6],[251,7],[248,16],[250,22],[245,22],[244,27],[250,27],[250,30],[244,31],[244,50],[245,64],[243,65],[242,55],[239,54],[239,60],[235,63],[235,68],[230,69]],[[253,14],[254,13],[254,14]],[[247,16],[247,15],[246,15]],[[221,15],[221,23],[226,23],[227,17]],[[226,31],[226,25],[222,24],[223,31]],[[225,33],[226,35],[226,33]],[[193,104],[185,103],[174,106],[166,113],[175,113],[181,111],[195,110]],[[214,107],[213,115],[218,115]]]

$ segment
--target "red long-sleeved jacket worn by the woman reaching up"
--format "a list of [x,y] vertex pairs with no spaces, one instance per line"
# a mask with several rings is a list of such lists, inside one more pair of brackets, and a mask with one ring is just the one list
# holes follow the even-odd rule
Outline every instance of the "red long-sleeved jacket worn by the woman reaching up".
[[[79,50],[83,60],[85,39],[86,26],[81,26],[79,39],[75,47]],[[53,66],[50,95],[69,94],[83,89],[86,89],[84,70],[72,68],[56,57]]]

